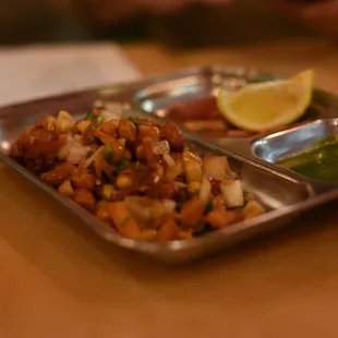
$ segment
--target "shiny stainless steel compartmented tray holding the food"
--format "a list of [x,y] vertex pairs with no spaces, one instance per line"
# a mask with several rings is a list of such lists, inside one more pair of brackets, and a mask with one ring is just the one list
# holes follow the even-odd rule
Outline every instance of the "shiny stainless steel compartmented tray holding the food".
[[[265,205],[268,212],[255,219],[246,220],[192,240],[169,243],[137,242],[120,237],[112,228],[100,222],[77,205],[70,203],[68,198],[61,196],[56,190],[11,160],[7,156],[7,150],[19,136],[24,125],[34,123],[43,116],[55,114],[61,109],[70,111],[75,117],[80,117],[90,109],[93,102],[97,99],[122,101],[129,102],[132,106],[130,114],[150,114],[154,119],[164,121],[166,119],[160,117],[158,109],[165,109],[171,102],[181,100],[182,97],[183,99],[193,100],[208,96],[217,86],[225,83],[227,85],[238,85],[238,83],[259,82],[270,79],[274,77],[242,68],[193,68],[132,84],[4,107],[0,109],[0,159],[35,183],[37,188],[45,190],[71,213],[77,215],[81,221],[89,226],[106,241],[162,262],[171,264],[189,262],[286,225],[290,219],[304,210],[336,198],[338,196],[338,189],[333,184],[313,182],[275,166],[269,159],[275,158],[274,156],[278,152],[278,147],[280,147],[278,140],[281,138],[278,138],[278,133],[259,137],[259,140],[251,137],[239,142],[238,140],[210,140],[196,133],[190,133],[182,128],[188,142],[194,143],[201,150],[228,156],[230,165],[243,178],[244,189],[254,192],[257,200]],[[333,105],[335,96],[322,92],[316,93],[318,99],[314,99],[307,119],[311,120],[311,116],[313,119],[318,117],[329,118],[336,113],[338,116]],[[153,108],[150,109],[149,107]],[[161,108],[157,109],[156,107]],[[316,123],[318,124],[318,122],[311,122],[306,126],[310,134],[306,132],[299,133],[300,129],[298,128],[283,133],[294,135],[295,140],[300,142],[299,144],[303,146],[306,143],[303,138],[306,135],[310,135],[311,138],[312,130],[321,130],[321,128],[316,129],[314,126]],[[303,130],[306,130],[306,128]],[[322,132],[322,134],[316,135],[321,136],[324,134]],[[269,146],[266,146],[266,144],[269,144]]]

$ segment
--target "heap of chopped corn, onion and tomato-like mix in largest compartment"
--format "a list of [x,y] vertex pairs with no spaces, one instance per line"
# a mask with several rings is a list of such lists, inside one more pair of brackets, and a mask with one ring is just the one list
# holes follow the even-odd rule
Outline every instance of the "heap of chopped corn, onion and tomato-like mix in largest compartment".
[[173,122],[61,111],[26,126],[10,156],[133,240],[190,239],[265,213],[226,156],[198,154]]

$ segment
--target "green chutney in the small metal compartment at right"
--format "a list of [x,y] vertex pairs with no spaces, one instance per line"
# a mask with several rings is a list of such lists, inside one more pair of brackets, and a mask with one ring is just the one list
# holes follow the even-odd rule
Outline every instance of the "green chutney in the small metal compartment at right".
[[313,148],[276,164],[311,179],[338,183],[338,136],[324,138]]

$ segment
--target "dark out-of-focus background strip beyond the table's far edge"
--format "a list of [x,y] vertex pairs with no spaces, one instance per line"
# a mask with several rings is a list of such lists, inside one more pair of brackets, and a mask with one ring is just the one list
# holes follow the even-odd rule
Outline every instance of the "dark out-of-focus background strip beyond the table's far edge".
[[[202,48],[314,34],[262,0],[237,0],[217,7],[192,4],[156,14],[129,11],[113,0],[100,8],[100,1],[105,0],[2,0],[0,44],[111,39]],[[117,15],[105,17],[105,12]]]

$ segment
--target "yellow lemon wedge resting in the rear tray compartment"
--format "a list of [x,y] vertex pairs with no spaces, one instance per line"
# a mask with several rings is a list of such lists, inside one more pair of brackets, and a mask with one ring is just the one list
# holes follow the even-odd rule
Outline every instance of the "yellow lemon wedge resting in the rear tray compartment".
[[312,99],[314,72],[289,80],[249,84],[238,92],[220,89],[218,108],[233,125],[261,132],[298,120]]

